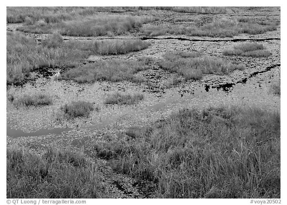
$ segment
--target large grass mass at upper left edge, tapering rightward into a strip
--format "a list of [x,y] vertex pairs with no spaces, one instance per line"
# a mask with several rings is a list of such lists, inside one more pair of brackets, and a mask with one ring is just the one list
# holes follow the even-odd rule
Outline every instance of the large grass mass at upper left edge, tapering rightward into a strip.
[[142,40],[63,41],[59,33],[49,35],[41,44],[18,32],[7,32],[7,84],[23,82],[30,71],[41,67],[75,67],[92,54],[126,54],[150,45]]

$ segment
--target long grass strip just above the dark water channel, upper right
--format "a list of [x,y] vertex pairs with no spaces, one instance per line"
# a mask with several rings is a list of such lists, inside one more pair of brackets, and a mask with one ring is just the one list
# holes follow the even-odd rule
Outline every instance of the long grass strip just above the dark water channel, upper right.
[[142,35],[179,35],[209,36],[209,37],[233,37],[241,33],[261,34],[277,29],[278,22],[262,21],[257,23],[251,19],[219,19],[214,22],[197,27],[186,27],[182,25],[149,25],[140,29]]

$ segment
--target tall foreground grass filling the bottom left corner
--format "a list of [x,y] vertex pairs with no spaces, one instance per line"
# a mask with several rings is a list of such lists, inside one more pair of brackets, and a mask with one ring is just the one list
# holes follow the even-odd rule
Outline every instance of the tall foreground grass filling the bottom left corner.
[[6,151],[6,197],[80,199],[109,198],[97,166],[83,153],[47,149],[37,155],[21,148]]

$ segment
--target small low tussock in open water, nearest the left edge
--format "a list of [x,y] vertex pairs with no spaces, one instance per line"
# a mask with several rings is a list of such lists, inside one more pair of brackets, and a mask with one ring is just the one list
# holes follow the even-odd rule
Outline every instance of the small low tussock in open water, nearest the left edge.
[[9,94],[7,97],[8,101],[12,102],[15,106],[43,106],[52,104],[52,98],[46,94],[34,94],[34,95],[24,95],[24,96],[14,96]]

